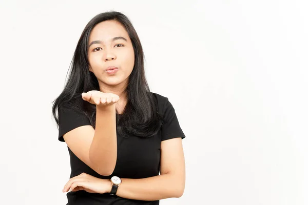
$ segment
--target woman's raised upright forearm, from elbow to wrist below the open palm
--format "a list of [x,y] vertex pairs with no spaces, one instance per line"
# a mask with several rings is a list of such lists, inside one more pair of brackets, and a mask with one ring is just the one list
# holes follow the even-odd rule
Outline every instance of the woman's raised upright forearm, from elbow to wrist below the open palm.
[[117,130],[114,105],[97,106],[95,134],[90,146],[89,158],[94,165],[97,165],[95,167],[98,168],[99,173],[104,175],[112,173],[117,161]]

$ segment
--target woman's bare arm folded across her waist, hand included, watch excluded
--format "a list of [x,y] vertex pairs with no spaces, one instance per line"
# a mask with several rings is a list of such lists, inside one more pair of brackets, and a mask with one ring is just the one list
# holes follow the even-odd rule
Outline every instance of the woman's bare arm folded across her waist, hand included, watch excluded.
[[[127,179],[121,178],[117,196],[136,200],[160,200],[181,197],[185,187],[185,160],[182,138],[176,137],[161,142],[161,165],[158,176]],[[90,193],[110,193],[112,183],[109,179],[101,179],[82,173],[70,178],[63,192],[84,190]]]

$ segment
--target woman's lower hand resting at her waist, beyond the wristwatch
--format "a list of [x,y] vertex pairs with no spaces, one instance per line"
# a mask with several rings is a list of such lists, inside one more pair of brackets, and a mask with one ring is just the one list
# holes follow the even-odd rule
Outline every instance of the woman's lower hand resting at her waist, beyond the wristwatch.
[[84,190],[89,193],[110,193],[111,182],[108,179],[100,179],[86,173],[72,177],[64,186],[62,192],[76,192]]

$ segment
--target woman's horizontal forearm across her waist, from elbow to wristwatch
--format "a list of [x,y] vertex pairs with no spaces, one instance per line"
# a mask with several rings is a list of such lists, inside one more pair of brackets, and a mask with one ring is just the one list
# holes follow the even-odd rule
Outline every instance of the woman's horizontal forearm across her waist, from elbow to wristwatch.
[[[121,178],[117,196],[137,200],[160,200],[172,197],[181,197],[185,182],[172,174],[163,174],[142,179]],[[112,185],[110,182],[110,190]]]

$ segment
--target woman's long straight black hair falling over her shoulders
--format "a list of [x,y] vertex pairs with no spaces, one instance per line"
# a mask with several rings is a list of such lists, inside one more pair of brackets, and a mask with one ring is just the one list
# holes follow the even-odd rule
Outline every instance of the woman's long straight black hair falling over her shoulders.
[[150,92],[144,71],[144,53],[140,39],[130,20],[121,12],[109,11],[94,16],[84,28],[70,64],[67,83],[62,93],[53,101],[52,114],[59,128],[56,110],[68,104],[71,109],[84,113],[95,129],[96,105],[82,99],[81,94],[90,90],[100,90],[97,77],[88,70],[88,40],[95,25],[105,20],[117,20],[131,39],[134,50],[134,66],[129,76],[127,104],[122,114],[116,111],[117,132],[123,137],[151,137],[158,133],[162,125],[162,115],[158,112],[155,96]]

